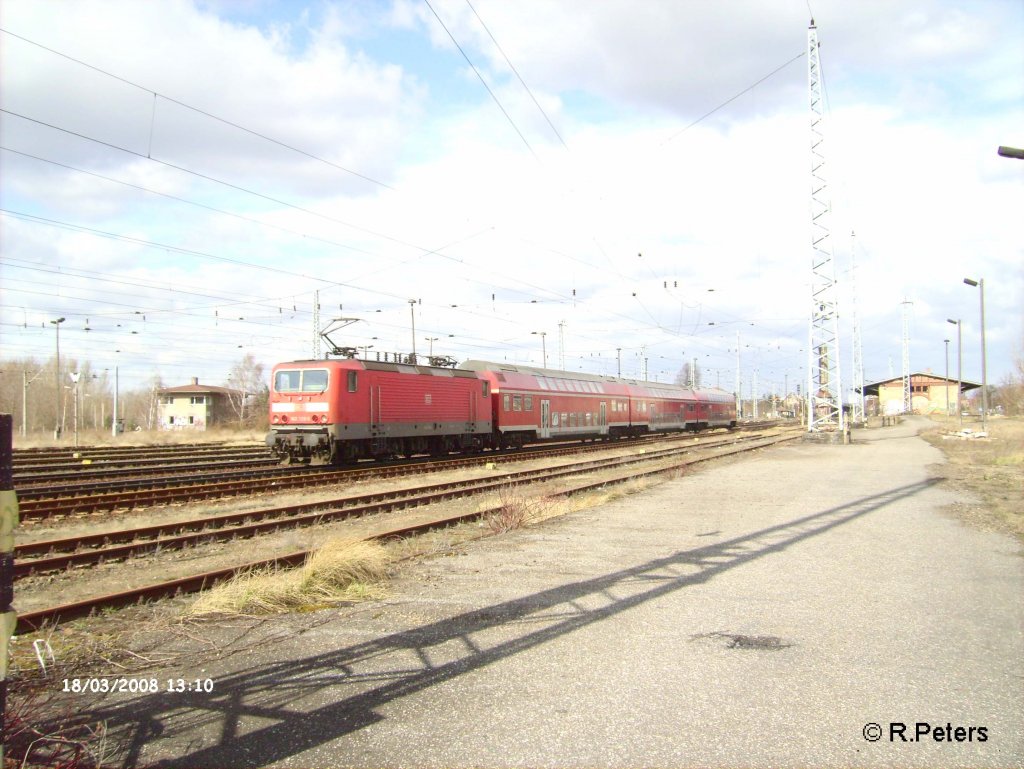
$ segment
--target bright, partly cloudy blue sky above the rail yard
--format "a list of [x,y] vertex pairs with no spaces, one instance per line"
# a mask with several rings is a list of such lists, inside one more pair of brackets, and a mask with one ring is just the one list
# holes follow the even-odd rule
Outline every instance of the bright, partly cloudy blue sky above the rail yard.
[[[4,0],[0,334],[122,381],[246,353],[806,379],[813,12],[845,383],[1021,353],[1024,4]],[[852,266],[856,265],[853,270]],[[853,280],[855,275],[855,281]],[[854,291],[856,287],[856,291]],[[326,345],[325,345],[326,347]]]

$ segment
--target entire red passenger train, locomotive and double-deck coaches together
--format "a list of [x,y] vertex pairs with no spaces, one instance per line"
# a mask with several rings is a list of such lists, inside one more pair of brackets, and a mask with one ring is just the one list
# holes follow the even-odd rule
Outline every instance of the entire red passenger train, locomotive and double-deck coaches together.
[[529,366],[331,358],[274,366],[269,420],[283,460],[341,464],[731,428],[736,408],[723,390]]

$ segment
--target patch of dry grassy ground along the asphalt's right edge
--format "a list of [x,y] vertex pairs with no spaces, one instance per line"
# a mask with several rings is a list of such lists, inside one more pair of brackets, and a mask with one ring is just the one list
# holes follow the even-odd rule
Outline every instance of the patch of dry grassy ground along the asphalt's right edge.
[[[988,438],[944,439],[957,420],[937,420],[940,427],[926,439],[948,460],[940,472],[955,486],[979,497],[981,506],[964,506],[961,517],[983,527],[1009,531],[1024,541],[1024,420],[992,418]],[[981,430],[980,424],[965,427]]]

